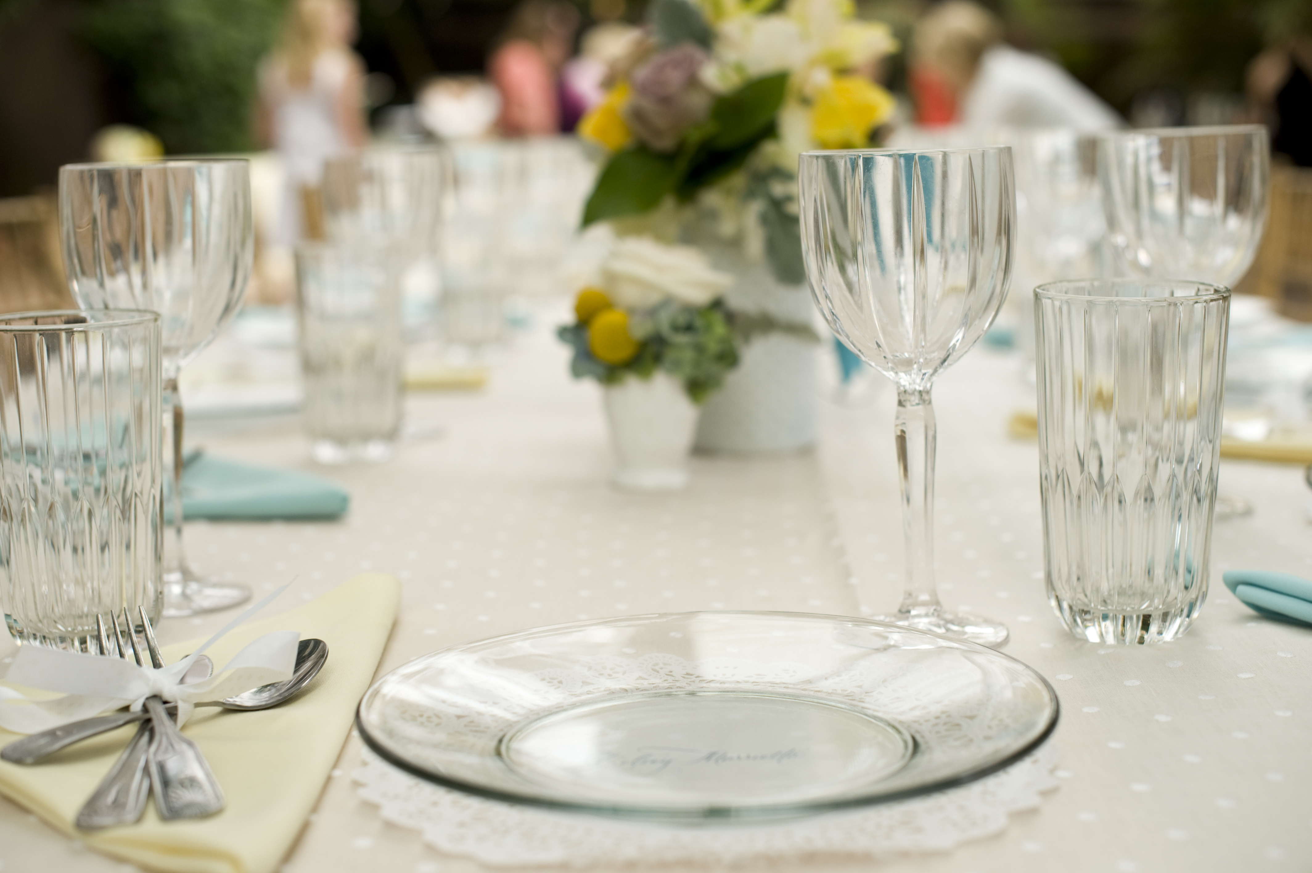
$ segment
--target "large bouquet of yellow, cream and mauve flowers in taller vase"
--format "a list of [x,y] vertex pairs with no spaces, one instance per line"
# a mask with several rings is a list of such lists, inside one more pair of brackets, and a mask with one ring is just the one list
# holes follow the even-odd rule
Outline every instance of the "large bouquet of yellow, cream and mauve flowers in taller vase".
[[[802,281],[798,155],[861,148],[893,113],[867,68],[896,49],[851,0],[653,0],[648,38],[615,71],[579,135],[605,151],[584,224],[672,238],[702,200],[732,236],[764,243],[781,280]],[[647,221],[642,221],[642,219]],[[745,219],[736,221],[736,219]],[[744,226],[744,223],[747,226]]]

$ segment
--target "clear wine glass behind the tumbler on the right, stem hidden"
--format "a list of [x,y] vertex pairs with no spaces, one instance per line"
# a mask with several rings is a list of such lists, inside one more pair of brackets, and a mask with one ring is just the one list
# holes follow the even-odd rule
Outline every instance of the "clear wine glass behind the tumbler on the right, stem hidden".
[[[1105,134],[1098,179],[1111,248],[1131,273],[1233,287],[1252,266],[1270,198],[1262,125]],[[1218,495],[1218,519],[1252,511]]]

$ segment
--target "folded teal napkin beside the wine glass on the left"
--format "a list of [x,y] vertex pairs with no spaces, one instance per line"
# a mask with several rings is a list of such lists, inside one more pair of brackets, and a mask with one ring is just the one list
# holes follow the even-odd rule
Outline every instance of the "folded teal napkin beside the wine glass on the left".
[[[169,501],[165,519],[172,521]],[[182,469],[185,519],[336,519],[346,512],[350,495],[332,482],[298,473],[273,470],[209,454],[193,453]]]

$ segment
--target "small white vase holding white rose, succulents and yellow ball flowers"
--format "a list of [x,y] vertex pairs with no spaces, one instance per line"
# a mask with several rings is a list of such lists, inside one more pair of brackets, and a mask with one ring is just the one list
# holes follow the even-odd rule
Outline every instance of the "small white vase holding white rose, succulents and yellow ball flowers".
[[684,383],[656,372],[649,379],[630,375],[619,385],[607,385],[604,394],[617,461],[611,482],[628,491],[687,487],[687,456],[699,410]]

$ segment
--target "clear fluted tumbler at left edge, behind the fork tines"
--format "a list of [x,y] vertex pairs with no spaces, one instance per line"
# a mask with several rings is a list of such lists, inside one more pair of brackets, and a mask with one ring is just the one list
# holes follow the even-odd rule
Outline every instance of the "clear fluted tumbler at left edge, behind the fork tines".
[[164,604],[160,318],[0,318],[0,601],[14,639],[85,649]]

